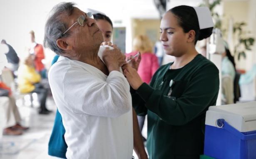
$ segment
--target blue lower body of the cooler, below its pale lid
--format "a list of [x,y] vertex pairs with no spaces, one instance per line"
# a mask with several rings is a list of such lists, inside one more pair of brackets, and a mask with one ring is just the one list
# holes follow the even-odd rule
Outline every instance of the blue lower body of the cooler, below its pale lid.
[[256,159],[256,131],[239,132],[224,119],[206,125],[204,154],[216,159]]

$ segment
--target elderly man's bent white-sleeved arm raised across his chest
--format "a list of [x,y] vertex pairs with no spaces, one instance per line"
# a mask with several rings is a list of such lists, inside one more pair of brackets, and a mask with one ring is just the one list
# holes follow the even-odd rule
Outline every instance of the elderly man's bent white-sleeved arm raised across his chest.
[[129,84],[118,71],[109,73],[107,80],[85,70],[66,72],[62,84],[64,98],[75,113],[117,117],[131,108]]

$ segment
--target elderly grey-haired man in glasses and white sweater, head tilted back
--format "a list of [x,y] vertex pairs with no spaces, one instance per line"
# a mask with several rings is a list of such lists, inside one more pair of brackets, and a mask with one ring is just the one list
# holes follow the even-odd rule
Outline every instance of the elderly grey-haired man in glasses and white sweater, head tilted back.
[[103,36],[91,16],[61,3],[45,25],[45,46],[60,55],[49,82],[66,129],[66,157],[131,159],[136,140],[135,151],[147,158],[139,131],[133,139],[129,83],[119,72],[125,57],[113,46],[99,58]]

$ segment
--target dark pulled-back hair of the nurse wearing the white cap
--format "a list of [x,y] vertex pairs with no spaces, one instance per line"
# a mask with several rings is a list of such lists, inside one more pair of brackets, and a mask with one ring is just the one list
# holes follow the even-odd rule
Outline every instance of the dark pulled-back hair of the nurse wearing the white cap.
[[190,30],[194,30],[196,32],[194,44],[196,44],[198,40],[211,36],[213,27],[200,29],[197,14],[193,7],[180,5],[171,8],[168,12],[175,15],[175,17],[178,19],[179,26],[181,26],[185,33],[189,32]]

